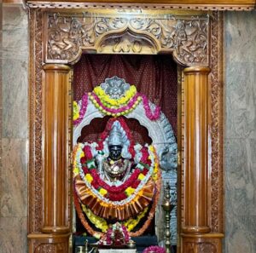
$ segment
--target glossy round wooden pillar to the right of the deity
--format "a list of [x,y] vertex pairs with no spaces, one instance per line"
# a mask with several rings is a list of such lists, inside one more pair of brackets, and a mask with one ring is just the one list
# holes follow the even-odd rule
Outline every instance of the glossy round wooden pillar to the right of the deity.
[[210,232],[207,214],[208,67],[184,69],[184,226],[186,235]]

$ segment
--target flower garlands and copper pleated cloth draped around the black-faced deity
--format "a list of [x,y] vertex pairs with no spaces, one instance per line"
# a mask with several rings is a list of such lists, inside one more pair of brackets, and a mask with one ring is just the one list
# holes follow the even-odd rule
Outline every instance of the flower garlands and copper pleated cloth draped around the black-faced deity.
[[[103,155],[103,143],[117,120],[130,140],[128,149],[133,159],[135,157],[134,141],[124,118],[110,118],[98,143],[79,143],[73,151],[75,206],[82,224],[94,236],[101,236],[102,233],[94,231],[85,216],[103,233],[106,233],[109,225],[107,220],[115,217],[114,219],[121,221],[128,228],[131,236],[142,234],[154,217],[160,193],[159,161],[153,146],[141,148],[141,159],[125,181],[119,181],[119,184],[107,183],[99,176],[94,155],[96,152]],[[148,213],[150,203],[152,205]],[[146,213],[148,218],[143,227],[136,232],[131,232]],[[137,218],[131,218],[135,216]]]

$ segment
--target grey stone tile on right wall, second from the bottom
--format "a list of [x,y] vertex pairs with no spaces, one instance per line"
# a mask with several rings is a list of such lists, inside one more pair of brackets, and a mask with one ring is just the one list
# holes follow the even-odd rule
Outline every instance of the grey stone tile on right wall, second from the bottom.
[[[230,139],[225,145],[226,213],[256,215],[256,173],[251,156],[255,140]],[[255,147],[254,147],[255,148]],[[253,152],[253,154],[251,153]]]

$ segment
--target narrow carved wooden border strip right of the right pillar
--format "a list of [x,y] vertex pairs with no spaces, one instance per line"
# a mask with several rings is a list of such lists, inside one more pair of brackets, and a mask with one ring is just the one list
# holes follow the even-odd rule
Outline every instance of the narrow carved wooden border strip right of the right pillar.
[[212,175],[211,191],[212,232],[224,231],[224,172],[223,172],[223,13],[212,13],[212,34],[211,34],[211,69],[212,83]]

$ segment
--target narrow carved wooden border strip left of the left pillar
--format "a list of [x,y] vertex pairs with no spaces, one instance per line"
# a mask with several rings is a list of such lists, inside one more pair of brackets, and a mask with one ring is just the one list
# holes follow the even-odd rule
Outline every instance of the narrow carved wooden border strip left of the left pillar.
[[[30,21],[30,146],[29,146],[29,233],[43,224],[42,173],[42,45],[43,15],[31,10]],[[34,54],[34,55],[33,55]]]

